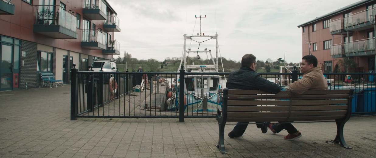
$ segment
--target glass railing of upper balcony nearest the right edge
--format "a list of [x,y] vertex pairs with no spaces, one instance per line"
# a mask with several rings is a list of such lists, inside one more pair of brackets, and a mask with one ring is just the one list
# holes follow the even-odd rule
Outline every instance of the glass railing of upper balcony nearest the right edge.
[[349,29],[349,27],[365,24],[367,22],[375,21],[375,8],[370,8],[365,11],[357,12],[352,15],[348,15],[343,18],[344,27]]

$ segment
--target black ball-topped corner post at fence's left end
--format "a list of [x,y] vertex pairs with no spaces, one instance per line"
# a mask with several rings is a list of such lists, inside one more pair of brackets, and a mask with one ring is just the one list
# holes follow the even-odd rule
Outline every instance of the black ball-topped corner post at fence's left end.
[[76,64],[73,64],[72,70],[72,78],[71,78],[71,120],[76,120],[76,113],[77,113],[77,69],[76,69]]

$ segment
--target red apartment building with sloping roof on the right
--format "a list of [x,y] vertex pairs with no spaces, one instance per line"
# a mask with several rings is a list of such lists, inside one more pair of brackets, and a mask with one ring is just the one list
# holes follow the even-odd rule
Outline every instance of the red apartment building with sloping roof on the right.
[[333,72],[343,58],[356,62],[353,72],[374,72],[375,13],[376,0],[361,0],[299,25],[303,56],[316,56],[324,72]]

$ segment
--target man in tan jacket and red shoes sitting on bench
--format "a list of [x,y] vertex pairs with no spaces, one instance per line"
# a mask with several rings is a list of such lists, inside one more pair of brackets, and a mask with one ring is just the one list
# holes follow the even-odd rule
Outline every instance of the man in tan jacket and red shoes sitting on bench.
[[[300,66],[303,78],[288,85],[288,90],[294,94],[303,94],[307,90],[327,90],[327,82],[321,71],[321,67],[317,66],[317,58],[312,55],[304,56],[302,58],[302,65]],[[277,123],[268,126],[272,134],[279,133],[286,129],[288,135],[285,140],[294,140],[302,137],[300,133],[291,123]]]

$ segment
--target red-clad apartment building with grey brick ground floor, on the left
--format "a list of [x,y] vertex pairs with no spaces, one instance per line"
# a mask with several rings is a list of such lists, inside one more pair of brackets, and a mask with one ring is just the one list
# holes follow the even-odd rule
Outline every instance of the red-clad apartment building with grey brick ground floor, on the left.
[[39,72],[67,84],[73,63],[119,55],[116,15],[106,0],[0,0],[0,91],[38,87]]

